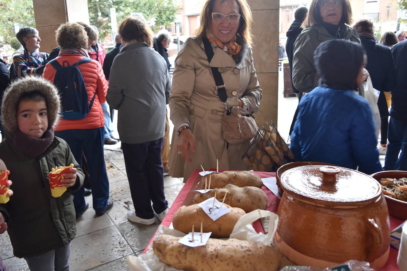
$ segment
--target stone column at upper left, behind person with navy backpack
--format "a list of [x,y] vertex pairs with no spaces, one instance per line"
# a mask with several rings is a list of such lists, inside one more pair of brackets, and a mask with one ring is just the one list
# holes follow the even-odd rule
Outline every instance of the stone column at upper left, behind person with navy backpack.
[[89,24],[87,0],[33,0],[35,24],[41,37],[40,52],[51,52],[58,46],[55,30],[66,22]]

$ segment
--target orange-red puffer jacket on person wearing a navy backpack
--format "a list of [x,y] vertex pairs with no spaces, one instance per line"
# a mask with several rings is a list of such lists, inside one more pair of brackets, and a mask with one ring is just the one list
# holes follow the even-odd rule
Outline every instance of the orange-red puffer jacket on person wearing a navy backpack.
[[[83,57],[84,56],[82,55],[61,54],[56,59],[61,65],[63,61],[68,61],[69,65],[73,65],[74,63],[77,63],[83,59]],[[79,65],[78,68],[82,73],[83,80],[85,81],[89,102],[92,100],[92,97],[96,91],[95,100],[90,112],[86,117],[83,119],[60,119],[58,126],[55,128],[56,131],[71,129],[96,129],[105,125],[101,103],[106,101],[107,82],[105,75],[103,74],[102,65],[97,61],[92,60],[88,63]],[[45,66],[42,76],[45,79],[54,82],[55,69],[50,63],[47,63]]]

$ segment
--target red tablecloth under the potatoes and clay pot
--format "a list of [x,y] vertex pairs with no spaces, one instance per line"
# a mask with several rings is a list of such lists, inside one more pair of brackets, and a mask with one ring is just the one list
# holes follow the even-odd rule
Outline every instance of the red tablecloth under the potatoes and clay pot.
[[[216,169],[211,169],[211,170],[216,171]],[[196,188],[196,186],[197,186],[196,179],[199,175],[198,174],[199,171],[200,170],[198,170],[198,169],[195,170],[194,173],[186,181],[184,187],[181,189],[181,191],[179,191],[179,194],[178,194],[177,198],[175,199],[173,205],[171,206],[170,210],[168,210],[167,215],[161,222],[161,225],[169,227],[173,220],[173,215],[174,215],[175,211],[177,211],[179,209],[179,207],[181,207],[182,205],[192,204],[192,202],[190,202],[190,201],[192,200],[193,195],[195,195],[198,192],[190,192],[190,191],[197,189]],[[253,173],[256,173],[258,176],[260,176],[260,178],[276,177],[275,172],[253,171]],[[193,186],[195,186],[195,187],[193,187]],[[198,188],[198,189],[201,189],[201,188]],[[267,189],[266,186],[263,185],[262,189],[267,194],[267,197],[268,197],[267,206],[269,206],[269,208],[267,208],[267,210],[269,210],[270,212],[277,212],[278,205],[280,204],[280,199],[278,197],[276,197],[276,195],[274,195],[269,189]],[[184,202],[186,204],[183,204]],[[402,220],[396,219],[394,217],[390,217],[390,230],[393,230],[401,223],[403,223]],[[260,219],[253,223],[253,227],[257,232],[264,233],[263,226],[260,223]],[[147,246],[147,248],[144,250],[143,254],[148,251],[148,247],[153,242],[154,237],[155,237],[155,234],[154,234],[153,238],[151,238],[151,241],[150,241],[149,245]],[[381,271],[399,270],[398,266],[397,266],[397,254],[398,254],[398,250],[396,250],[394,248],[390,248],[389,260],[387,260],[386,265],[381,269]]]

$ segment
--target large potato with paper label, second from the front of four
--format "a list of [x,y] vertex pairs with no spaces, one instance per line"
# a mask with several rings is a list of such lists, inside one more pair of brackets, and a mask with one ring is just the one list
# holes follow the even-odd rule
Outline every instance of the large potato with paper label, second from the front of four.
[[192,225],[194,225],[195,231],[198,232],[201,230],[202,222],[203,231],[212,232],[212,237],[228,238],[236,222],[246,213],[241,208],[233,208],[228,204],[224,205],[231,211],[215,221],[198,204],[181,206],[173,216],[173,227],[175,230],[188,233],[192,232]]

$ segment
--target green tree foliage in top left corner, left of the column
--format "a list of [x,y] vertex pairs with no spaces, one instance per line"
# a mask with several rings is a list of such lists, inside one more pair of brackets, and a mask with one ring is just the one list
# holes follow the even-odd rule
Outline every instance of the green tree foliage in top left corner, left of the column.
[[1,44],[10,44],[10,39],[15,37],[14,23],[35,27],[32,0],[0,0]]

